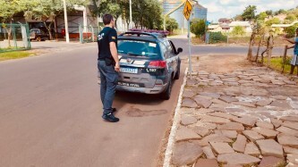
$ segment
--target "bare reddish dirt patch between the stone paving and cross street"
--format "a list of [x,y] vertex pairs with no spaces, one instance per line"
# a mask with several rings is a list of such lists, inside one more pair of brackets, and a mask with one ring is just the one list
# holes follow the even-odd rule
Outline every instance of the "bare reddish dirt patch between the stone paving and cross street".
[[[188,63],[184,59],[183,63]],[[246,56],[239,54],[209,54],[204,56],[192,56],[192,71],[208,71],[226,73],[236,70],[246,70],[252,64],[246,60]]]

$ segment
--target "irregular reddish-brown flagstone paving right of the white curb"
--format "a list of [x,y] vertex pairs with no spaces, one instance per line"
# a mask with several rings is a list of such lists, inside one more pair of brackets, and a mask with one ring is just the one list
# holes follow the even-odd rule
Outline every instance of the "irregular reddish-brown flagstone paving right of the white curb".
[[172,166],[298,166],[298,86],[266,68],[192,72]]

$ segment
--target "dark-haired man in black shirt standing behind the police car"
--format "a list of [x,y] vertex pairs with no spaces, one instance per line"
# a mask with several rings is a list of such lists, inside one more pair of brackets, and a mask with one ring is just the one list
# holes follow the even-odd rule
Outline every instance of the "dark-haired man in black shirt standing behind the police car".
[[117,32],[111,14],[103,16],[105,28],[98,34],[98,71],[100,72],[100,98],[104,113],[102,118],[106,121],[117,122],[114,116],[115,108],[112,104],[115,97],[115,88],[120,71],[117,53]]

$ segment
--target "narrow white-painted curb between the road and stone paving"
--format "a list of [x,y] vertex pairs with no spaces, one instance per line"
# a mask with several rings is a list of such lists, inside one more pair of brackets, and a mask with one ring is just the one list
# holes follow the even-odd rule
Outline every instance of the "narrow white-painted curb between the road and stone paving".
[[166,146],[166,154],[165,154],[165,159],[164,159],[164,167],[169,167],[171,165],[171,158],[173,154],[173,146],[175,144],[175,135],[176,131],[179,125],[179,121],[181,118],[181,104],[182,104],[182,97],[183,97],[183,90],[186,85],[186,79],[187,79],[187,71],[188,68],[185,69],[184,71],[184,78],[183,78],[183,85],[180,88],[180,93],[179,93],[179,98],[178,98],[178,103],[175,109],[175,115],[174,115],[174,121],[172,124],[171,132],[169,135],[169,138],[167,140],[167,146]]

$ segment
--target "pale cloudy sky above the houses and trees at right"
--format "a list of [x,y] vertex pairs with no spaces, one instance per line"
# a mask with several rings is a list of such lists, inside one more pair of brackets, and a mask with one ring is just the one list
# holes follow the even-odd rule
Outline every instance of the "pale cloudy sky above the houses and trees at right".
[[298,0],[199,0],[199,4],[208,8],[208,21],[217,22],[220,18],[233,18],[243,13],[250,4],[256,5],[257,13],[260,13],[295,8]]

